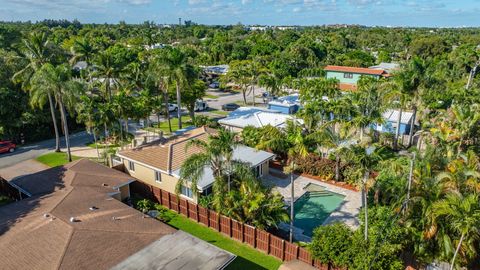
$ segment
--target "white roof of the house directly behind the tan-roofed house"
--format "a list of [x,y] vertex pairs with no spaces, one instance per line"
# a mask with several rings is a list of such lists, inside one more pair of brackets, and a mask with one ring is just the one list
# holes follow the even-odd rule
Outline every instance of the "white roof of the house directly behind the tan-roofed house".
[[272,110],[240,107],[233,111],[228,117],[220,119],[218,123],[238,128],[245,128],[247,126],[260,128],[267,125],[282,127],[288,119],[292,119],[292,116]]

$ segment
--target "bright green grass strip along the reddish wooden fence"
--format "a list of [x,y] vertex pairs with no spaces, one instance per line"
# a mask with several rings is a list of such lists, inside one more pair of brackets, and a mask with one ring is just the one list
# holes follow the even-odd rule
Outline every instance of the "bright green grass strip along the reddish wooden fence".
[[237,255],[237,258],[226,269],[278,269],[282,264],[280,260],[273,256],[266,255],[246,244],[230,239],[184,216],[176,215],[168,224]]

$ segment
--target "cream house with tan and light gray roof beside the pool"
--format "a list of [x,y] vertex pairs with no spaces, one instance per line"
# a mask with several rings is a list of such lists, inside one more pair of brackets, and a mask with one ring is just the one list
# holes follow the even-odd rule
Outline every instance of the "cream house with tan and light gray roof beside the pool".
[[[201,127],[168,140],[152,142],[140,147],[124,150],[117,154],[125,172],[140,181],[175,193],[180,168],[183,162],[202,149],[187,144],[192,140],[207,141],[210,135],[216,133],[215,129]],[[247,146],[237,146],[233,151],[233,159],[250,164],[257,176],[265,176],[269,172],[269,161],[275,155],[265,151],[257,151]],[[209,166],[205,166],[202,179],[198,181],[198,190],[202,195],[212,192],[214,182],[213,173]],[[182,186],[180,196],[197,202],[198,194],[193,194],[190,186]]]

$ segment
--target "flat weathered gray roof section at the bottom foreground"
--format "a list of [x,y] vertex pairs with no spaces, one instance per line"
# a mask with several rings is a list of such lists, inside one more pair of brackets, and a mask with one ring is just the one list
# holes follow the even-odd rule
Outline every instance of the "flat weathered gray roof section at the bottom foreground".
[[112,270],[223,269],[235,257],[190,234],[177,231],[153,242]]

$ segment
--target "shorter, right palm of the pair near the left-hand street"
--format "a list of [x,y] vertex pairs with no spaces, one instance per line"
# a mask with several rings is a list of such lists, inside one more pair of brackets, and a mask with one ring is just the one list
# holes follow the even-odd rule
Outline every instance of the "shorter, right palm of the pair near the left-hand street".
[[34,89],[38,89],[38,91],[35,92],[36,95],[48,95],[51,91],[55,96],[55,100],[60,107],[68,161],[71,162],[72,155],[70,152],[66,107],[73,108],[75,106],[82,92],[83,85],[79,81],[72,80],[71,70],[67,65],[55,67],[48,63],[43,65],[40,70],[33,75],[31,84]]

